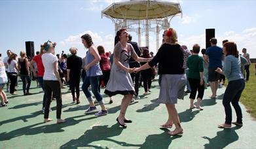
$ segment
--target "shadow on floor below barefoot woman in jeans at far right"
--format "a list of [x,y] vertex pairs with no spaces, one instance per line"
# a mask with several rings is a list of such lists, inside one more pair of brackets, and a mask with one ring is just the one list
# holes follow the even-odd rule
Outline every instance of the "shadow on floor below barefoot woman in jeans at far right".
[[238,134],[236,133],[236,129],[240,129],[239,126],[223,129],[222,131],[218,131],[217,135],[213,138],[202,137],[209,141],[208,144],[204,144],[205,148],[225,148],[230,143],[238,141]]

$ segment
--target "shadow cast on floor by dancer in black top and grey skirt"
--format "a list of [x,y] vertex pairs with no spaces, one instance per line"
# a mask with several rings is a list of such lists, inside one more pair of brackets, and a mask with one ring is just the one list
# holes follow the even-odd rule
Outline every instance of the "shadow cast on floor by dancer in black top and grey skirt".
[[181,135],[170,137],[170,135],[168,135],[168,131],[170,131],[169,129],[160,129],[164,132],[147,136],[145,142],[140,146],[140,148],[170,148],[170,144],[174,139],[182,137]]

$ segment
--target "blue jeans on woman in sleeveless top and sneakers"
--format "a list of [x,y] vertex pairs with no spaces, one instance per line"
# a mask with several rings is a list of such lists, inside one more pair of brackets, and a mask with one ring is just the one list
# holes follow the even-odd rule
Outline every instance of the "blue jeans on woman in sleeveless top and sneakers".
[[[100,105],[103,104],[102,96],[100,91],[98,90],[100,86],[100,76],[84,76],[84,82],[82,83],[82,91],[84,91],[84,95],[88,99],[88,101],[92,101],[92,93],[94,93],[95,98],[97,99]],[[92,87],[92,93],[89,91],[89,86]]]

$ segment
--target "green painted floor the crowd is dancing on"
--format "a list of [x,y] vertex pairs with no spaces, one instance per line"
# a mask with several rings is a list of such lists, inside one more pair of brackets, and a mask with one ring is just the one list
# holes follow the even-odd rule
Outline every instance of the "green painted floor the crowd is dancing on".
[[[0,108],[0,148],[256,148],[256,122],[242,105],[244,126],[219,129],[217,124],[225,120],[222,95],[225,88],[217,91],[219,97],[210,99],[210,88],[205,90],[204,110],[188,110],[189,95],[176,105],[184,133],[170,137],[160,129],[168,115],[166,107],[156,103],[159,87],[153,82],[151,94],[141,96],[128,107],[127,118],[133,120],[127,129],[117,125],[121,95],[113,97],[114,103],[106,105],[107,116],[86,115],[88,102],[81,91],[81,104],[71,102],[71,93],[62,90],[62,118],[65,124],[56,124],[56,102],[52,102],[50,118],[43,123],[41,111],[43,93],[31,84],[33,95],[23,96],[19,82],[18,95],[9,95],[8,107]],[[103,90],[101,91],[101,93]],[[139,93],[142,95],[143,88]],[[104,96],[105,103],[109,98]],[[100,109],[99,106],[97,106]],[[233,118],[236,116],[233,109]]]

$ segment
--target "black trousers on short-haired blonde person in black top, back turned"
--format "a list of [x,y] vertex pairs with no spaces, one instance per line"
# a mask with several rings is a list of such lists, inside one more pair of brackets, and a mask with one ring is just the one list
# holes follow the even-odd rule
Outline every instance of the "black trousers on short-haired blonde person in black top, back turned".
[[75,93],[77,94],[77,99],[80,97],[80,80],[81,74],[78,74],[77,76],[70,76],[69,88],[73,98],[75,97]]

